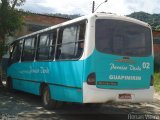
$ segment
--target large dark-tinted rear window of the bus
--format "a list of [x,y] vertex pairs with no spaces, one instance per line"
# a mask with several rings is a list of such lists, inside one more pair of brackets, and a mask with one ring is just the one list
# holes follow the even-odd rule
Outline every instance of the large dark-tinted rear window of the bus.
[[96,49],[121,56],[149,56],[152,51],[148,27],[113,19],[96,20]]

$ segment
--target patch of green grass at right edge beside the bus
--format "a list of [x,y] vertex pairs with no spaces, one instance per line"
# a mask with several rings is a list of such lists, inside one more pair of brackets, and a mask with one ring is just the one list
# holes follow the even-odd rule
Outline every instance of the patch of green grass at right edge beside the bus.
[[154,73],[154,87],[156,92],[160,93],[160,71]]

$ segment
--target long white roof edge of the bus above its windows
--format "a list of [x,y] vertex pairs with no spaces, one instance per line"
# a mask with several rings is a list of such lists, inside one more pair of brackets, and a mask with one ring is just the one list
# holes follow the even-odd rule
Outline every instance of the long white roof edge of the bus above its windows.
[[[37,31],[37,32],[33,32],[33,33],[31,33],[31,34],[24,35],[24,36],[22,36],[22,37],[19,37],[19,38],[16,39],[16,40],[20,40],[20,39],[24,39],[24,38],[26,38],[26,37],[34,36],[34,35],[36,35],[36,34],[40,34],[40,33],[43,33],[43,32],[49,31],[49,30],[53,30],[53,29],[59,28],[59,27],[61,27],[61,26],[66,26],[66,25],[69,25],[69,24],[71,24],[71,23],[76,23],[76,22],[79,22],[79,21],[82,21],[82,20],[85,20],[85,19],[88,20],[88,19],[93,18],[93,17],[101,18],[101,19],[117,19],[117,20],[123,20],[123,21],[133,22],[133,23],[136,23],[136,24],[139,24],[139,25],[142,25],[142,26],[146,26],[146,27],[151,28],[148,23],[142,22],[142,21],[137,20],[137,19],[134,19],[134,18],[130,18],[130,17],[127,17],[127,16],[120,16],[120,15],[116,15],[116,14],[113,14],[113,13],[100,12],[100,13],[93,13],[93,14],[89,14],[89,15],[86,15],[86,16],[78,17],[78,18],[75,18],[75,19],[73,19],[73,20],[69,20],[69,21],[66,21],[66,22],[63,22],[63,23],[54,25],[54,26],[51,26],[51,27],[48,27],[48,28],[39,30],[39,31]],[[13,42],[14,42],[14,41],[13,41]],[[13,43],[13,42],[12,42],[12,43]],[[11,44],[12,44],[12,43],[11,43]]]

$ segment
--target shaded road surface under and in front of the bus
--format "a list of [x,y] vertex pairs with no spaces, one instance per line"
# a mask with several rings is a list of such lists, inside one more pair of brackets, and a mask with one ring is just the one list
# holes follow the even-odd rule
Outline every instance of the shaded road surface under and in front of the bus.
[[18,120],[103,120],[120,117],[146,119],[145,115],[152,115],[150,116],[152,119],[160,119],[159,113],[160,97],[157,94],[152,103],[108,103],[92,107],[65,103],[62,108],[49,111],[42,107],[41,98],[38,96],[0,89],[0,119],[4,116]]

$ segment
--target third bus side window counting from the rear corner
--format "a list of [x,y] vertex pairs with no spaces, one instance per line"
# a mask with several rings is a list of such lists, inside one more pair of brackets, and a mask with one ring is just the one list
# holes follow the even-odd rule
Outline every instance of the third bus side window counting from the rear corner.
[[24,41],[22,61],[33,61],[36,50],[36,37],[27,38]]

